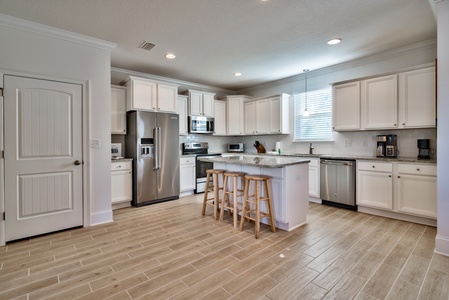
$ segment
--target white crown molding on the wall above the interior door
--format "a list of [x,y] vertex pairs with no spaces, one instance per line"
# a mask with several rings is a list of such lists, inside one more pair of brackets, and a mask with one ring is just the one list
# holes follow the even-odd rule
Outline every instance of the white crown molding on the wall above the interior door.
[[8,15],[0,14],[0,26],[12,27],[15,29],[28,31],[60,40],[70,41],[94,48],[112,51],[117,44],[89,37],[86,35],[42,25],[39,23],[11,17]]

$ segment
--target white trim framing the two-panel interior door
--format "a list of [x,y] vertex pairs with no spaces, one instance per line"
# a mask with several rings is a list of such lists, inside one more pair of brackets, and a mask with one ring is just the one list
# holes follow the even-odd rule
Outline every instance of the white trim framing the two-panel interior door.
[[[35,73],[27,73],[27,72],[21,72],[16,70],[9,70],[9,69],[0,69],[0,88],[4,88],[4,82],[3,77],[4,75],[14,75],[14,76],[22,76],[22,77],[30,77],[30,78],[39,78],[39,79],[45,79],[45,80],[51,80],[51,81],[58,81],[58,82],[66,82],[66,83],[72,83],[72,84],[79,84],[82,86],[82,124],[83,124],[83,131],[82,131],[82,156],[83,156],[83,179],[82,179],[82,185],[83,185],[83,226],[88,227],[90,226],[90,199],[89,199],[89,161],[90,161],[90,153],[88,151],[88,141],[90,139],[89,137],[89,95],[90,95],[90,80],[74,80],[70,78],[61,78],[61,77],[54,77],[49,75],[43,75],[43,74],[35,74]],[[4,135],[3,135],[3,124],[4,124],[4,116],[3,116],[3,97],[0,98],[0,150],[4,150]],[[4,190],[4,175],[5,175],[5,168],[4,168],[4,159],[0,156],[0,214],[3,214],[5,211],[5,190]],[[0,247],[5,245],[5,221],[3,218],[0,218]]]

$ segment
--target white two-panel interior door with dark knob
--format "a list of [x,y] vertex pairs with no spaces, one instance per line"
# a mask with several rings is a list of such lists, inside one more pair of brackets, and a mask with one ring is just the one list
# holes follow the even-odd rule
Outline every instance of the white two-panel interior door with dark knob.
[[82,86],[4,76],[6,241],[83,224]]

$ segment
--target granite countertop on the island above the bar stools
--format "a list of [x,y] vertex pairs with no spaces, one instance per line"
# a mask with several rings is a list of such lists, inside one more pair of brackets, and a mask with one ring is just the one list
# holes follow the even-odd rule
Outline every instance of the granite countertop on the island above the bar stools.
[[299,157],[278,156],[273,157],[269,155],[248,155],[248,154],[233,154],[232,156],[200,158],[202,161],[212,161],[227,164],[256,166],[265,168],[283,168],[287,166],[309,163],[310,160],[301,159]]

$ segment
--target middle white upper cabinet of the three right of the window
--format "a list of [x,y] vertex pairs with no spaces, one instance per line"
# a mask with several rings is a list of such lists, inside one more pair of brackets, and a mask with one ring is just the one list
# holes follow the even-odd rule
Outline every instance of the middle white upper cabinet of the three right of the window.
[[394,74],[361,82],[362,129],[398,127],[397,78]]

